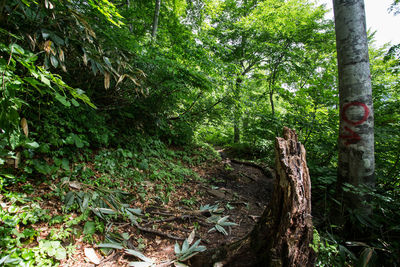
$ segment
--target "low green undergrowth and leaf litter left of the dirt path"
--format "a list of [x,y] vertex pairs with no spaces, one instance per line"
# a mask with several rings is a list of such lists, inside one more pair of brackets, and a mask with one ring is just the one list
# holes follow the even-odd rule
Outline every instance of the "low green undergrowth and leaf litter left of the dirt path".
[[57,266],[73,254],[80,237],[92,244],[126,242],[112,223],[142,220],[142,210],[131,203],[168,204],[177,187],[201,179],[191,167],[218,156],[206,144],[182,149],[144,137],[124,148],[73,145],[73,155],[65,145],[46,153],[40,147],[25,151],[30,155],[20,167],[24,172],[2,169],[2,265]]

